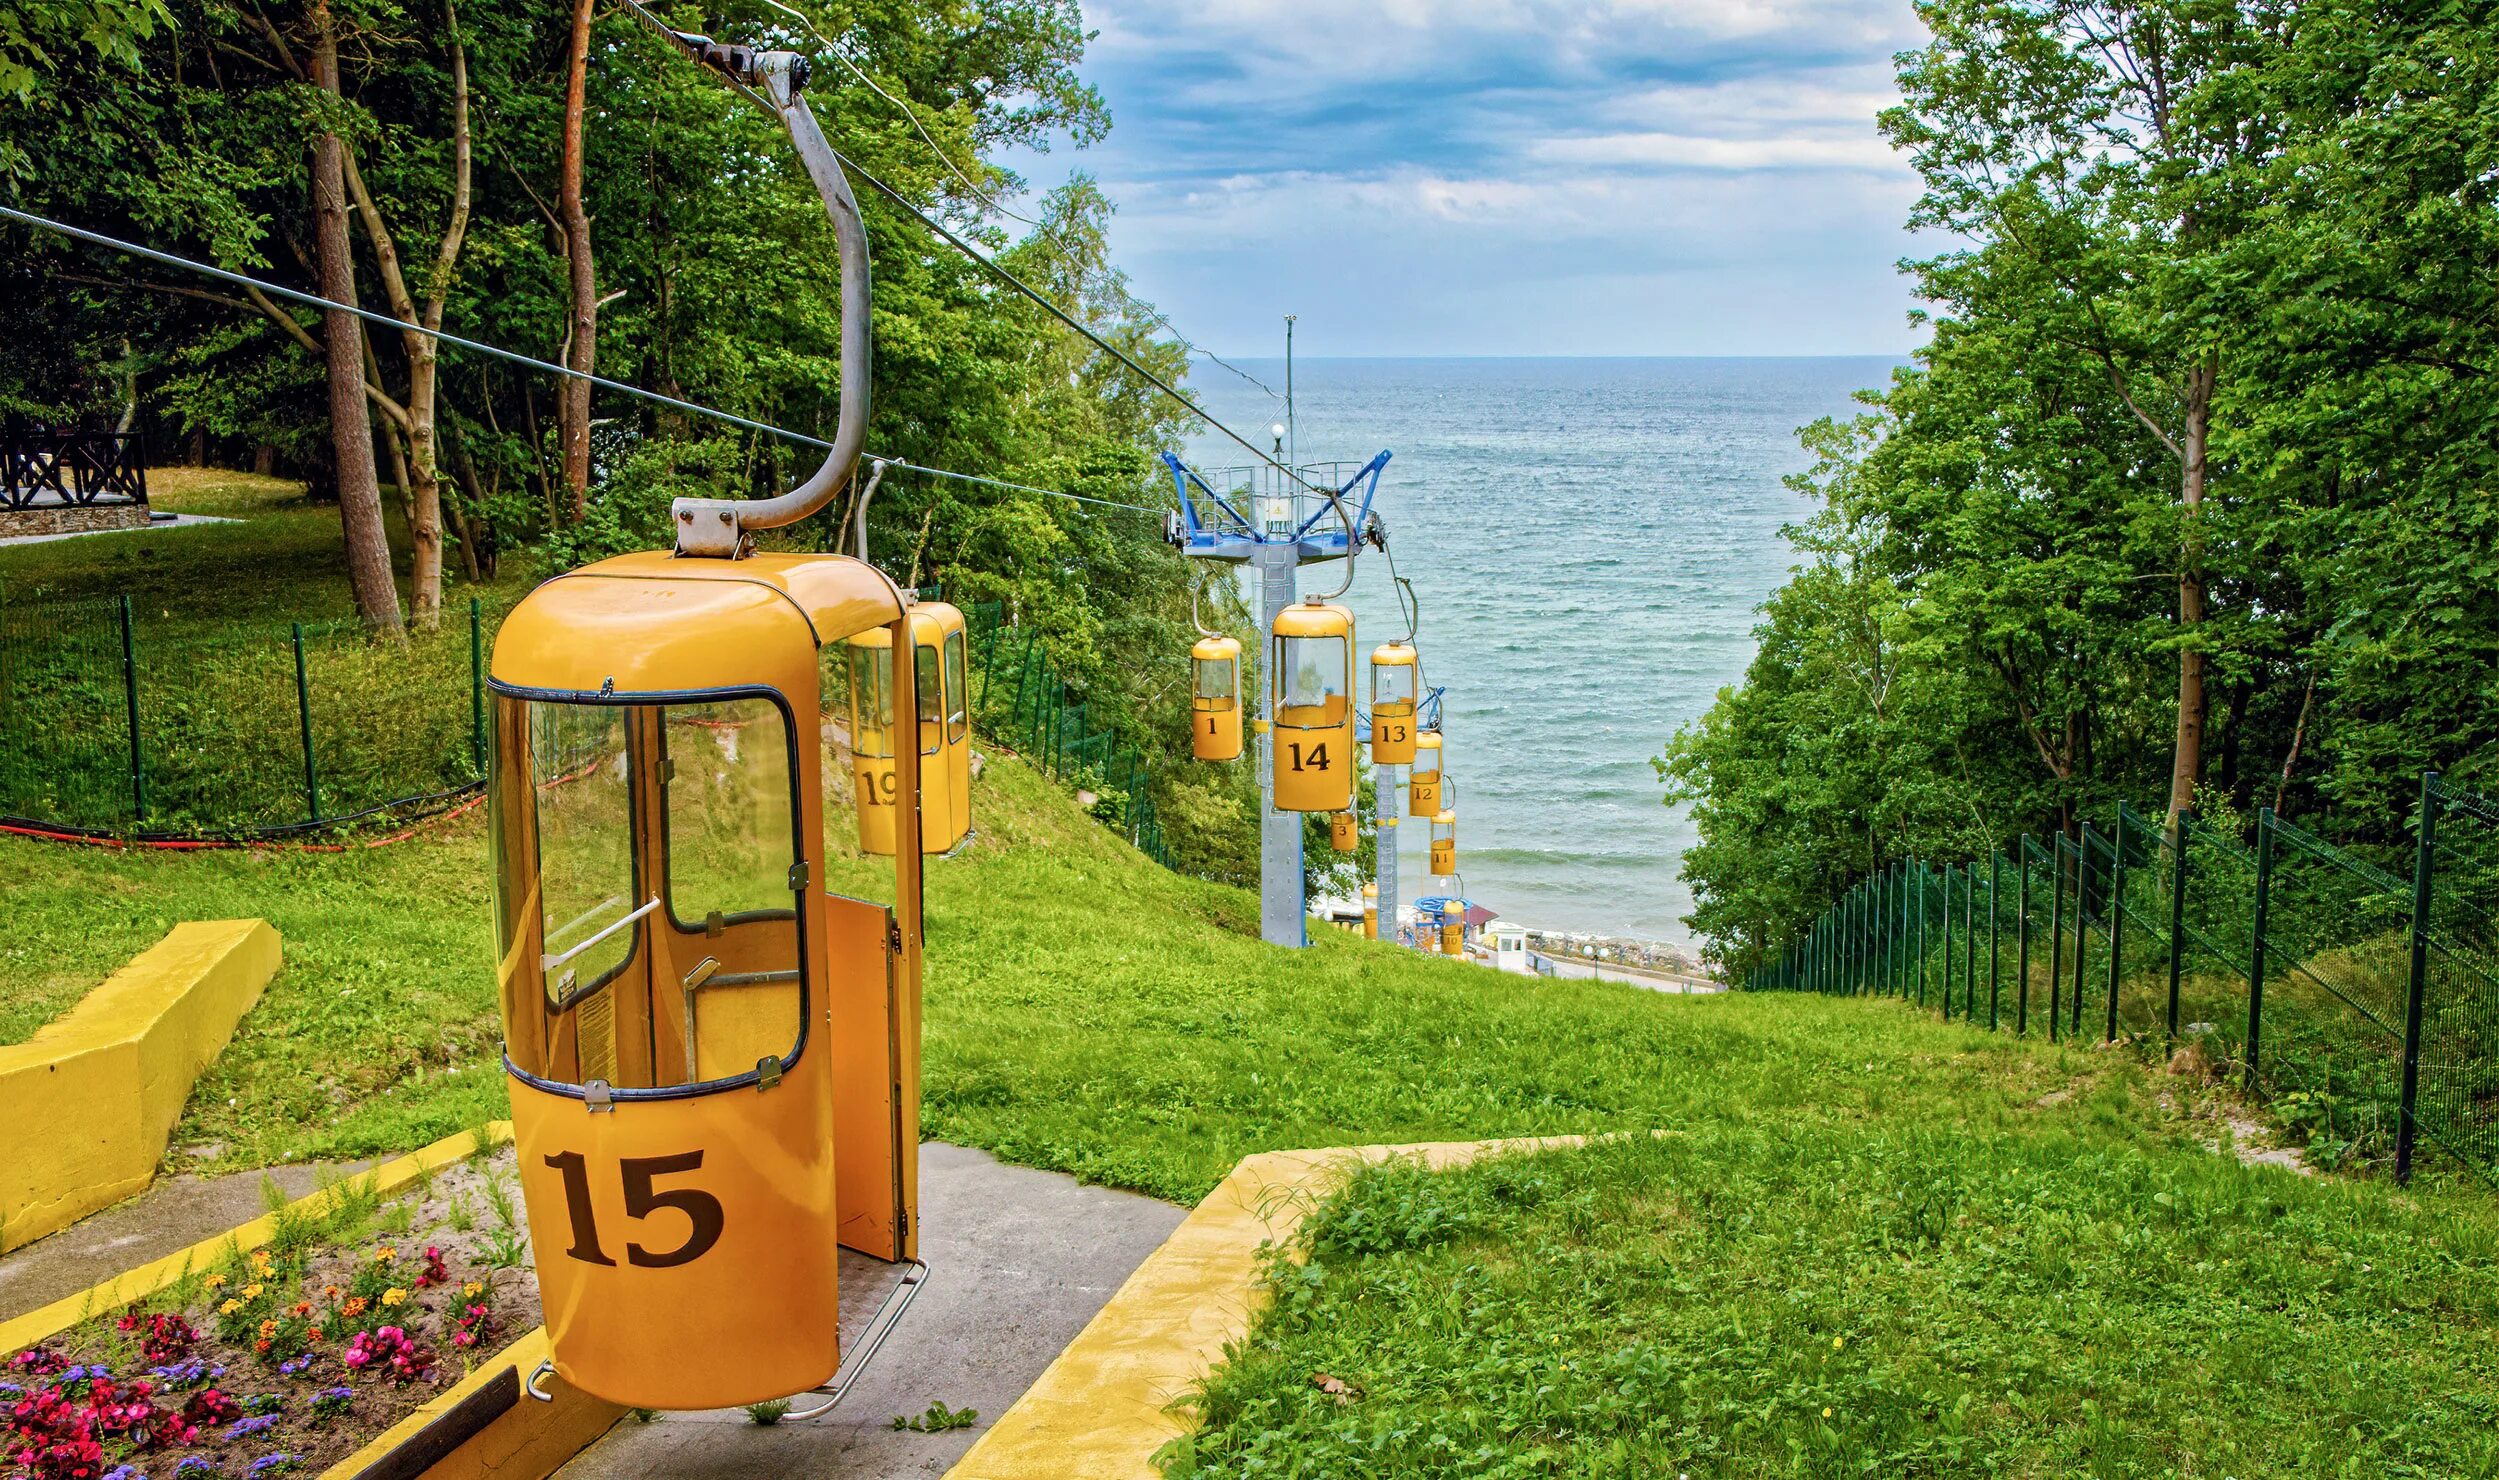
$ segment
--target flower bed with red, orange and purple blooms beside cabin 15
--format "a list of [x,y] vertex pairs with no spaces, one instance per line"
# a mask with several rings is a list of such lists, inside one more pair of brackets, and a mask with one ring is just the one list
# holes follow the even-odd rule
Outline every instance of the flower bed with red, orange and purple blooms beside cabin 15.
[[342,1182],[270,1242],[0,1362],[7,1480],[320,1475],[537,1325],[512,1152]]

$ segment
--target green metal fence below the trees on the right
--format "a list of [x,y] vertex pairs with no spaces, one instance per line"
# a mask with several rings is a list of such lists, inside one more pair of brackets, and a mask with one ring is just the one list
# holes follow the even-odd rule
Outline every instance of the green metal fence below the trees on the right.
[[2427,1140],[2499,1175],[2499,802],[2424,775],[2409,858],[2272,810],[2247,838],[2124,802],[2099,822],[1897,860],[1744,985],[2192,1050],[2327,1160],[2409,1178]]

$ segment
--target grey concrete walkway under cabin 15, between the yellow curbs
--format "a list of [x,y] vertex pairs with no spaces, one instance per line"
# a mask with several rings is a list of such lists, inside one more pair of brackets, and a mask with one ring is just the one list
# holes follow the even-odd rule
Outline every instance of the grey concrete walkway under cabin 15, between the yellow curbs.
[[[930,1262],[930,1285],[842,1408],[777,1428],[747,1422],[740,1410],[627,1418],[557,1475],[942,1475],[1185,1218],[1185,1208],[1135,1192],[1010,1168],[957,1145],[922,1145],[920,1258]],[[845,1282],[845,1328],[847,1292]],[[892,1428],[930,1402],[975,1408],[980,1422],[935,1435]]]

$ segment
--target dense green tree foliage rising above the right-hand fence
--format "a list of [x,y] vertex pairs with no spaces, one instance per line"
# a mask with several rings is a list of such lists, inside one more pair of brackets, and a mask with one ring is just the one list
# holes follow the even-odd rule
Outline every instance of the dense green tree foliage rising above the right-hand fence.
[[1867,415],[1807,428],[1802,565],[1659,760],[1702,830],[1692,922],[1732,965],[1894,858],[2182,775],[2182,800],[2357,845],[2402,838],[2422,768],[2499,785],[2482,8],[1919,12],[1884,128],[1914,220],[1957,235],[1909,262],[1932,342]]

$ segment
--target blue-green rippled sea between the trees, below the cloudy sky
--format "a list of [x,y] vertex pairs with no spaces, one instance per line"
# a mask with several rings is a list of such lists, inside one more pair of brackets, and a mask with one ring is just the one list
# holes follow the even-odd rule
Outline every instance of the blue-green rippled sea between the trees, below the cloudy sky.
[[[1200,360],[1192,395],[1264,445],[1284,362],[1230,362],[1264,388]],[[1652,760],[1742,678],[1757,608],[1794,565],[1797,430],[1862,410],[1852,392],[1894,362],[1294,360],[1299,462],[1392,452],[1372,508],[1422,598],[1427,682],[1447,688],[1469,900],[1534,930],[1692,942],[1679,868],[1697,835]],[[1190,458],[1247,462],[1217,432]],[[1302,570],[1304,592],[1337,580]],[[1347,605],[1364,658],[1404,632],[1377,555]],[[1409,832],[1404,900],[1437,892]]]

